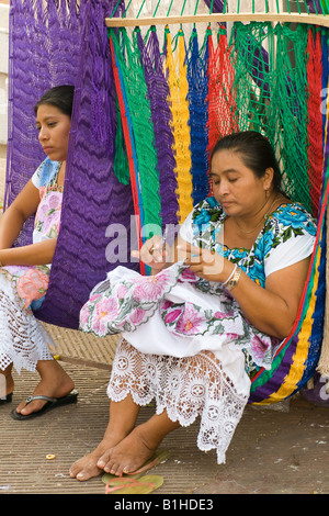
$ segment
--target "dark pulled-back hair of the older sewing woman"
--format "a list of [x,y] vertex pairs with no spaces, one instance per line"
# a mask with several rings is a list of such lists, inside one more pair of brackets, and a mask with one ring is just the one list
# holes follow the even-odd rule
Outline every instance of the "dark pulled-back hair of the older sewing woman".
[[231,150],[239,153],[246,167],[250,168],[258,178],[262,178],[266,168],[273,168],[273,187],[276,191],[281,190],[281,171],[275,158],[272,145],[257,131],[243,131],[234,133],[219,139],[213,152],[213,156],[219,150]]

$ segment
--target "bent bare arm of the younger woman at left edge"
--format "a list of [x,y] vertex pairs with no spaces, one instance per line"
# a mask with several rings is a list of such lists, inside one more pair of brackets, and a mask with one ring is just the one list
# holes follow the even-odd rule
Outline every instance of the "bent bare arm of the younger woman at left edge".
[[25,221],[32,216],[39,203],[38,189],[30,180],[0,218],[0,262],[8,265],[47,265],[54,257],[56,238],[30,246],[12,248]]

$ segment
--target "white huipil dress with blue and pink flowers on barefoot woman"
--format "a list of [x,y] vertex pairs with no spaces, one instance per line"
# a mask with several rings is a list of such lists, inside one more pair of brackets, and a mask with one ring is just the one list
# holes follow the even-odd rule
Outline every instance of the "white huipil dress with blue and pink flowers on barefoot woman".
[[[306,210],[280,206],[252,249],[228,249],[217,242],[225,213],[209,198],[181,227],[183,239],[201,240],[239,265],[264,287],[265,278],[308,257],[315,225]],[[197,446],[226,451],[250,394],[250,375],[271,369],[280,341],[254,328],[219,283],[194,276],[178,262],[157,276],[143,277],[124,267],[109,272],[80,313],[80,327],[98,336],[121,333],[107,388],[118,402],[129,393],[138,405],[156,399],[181,426],[200,417]]]

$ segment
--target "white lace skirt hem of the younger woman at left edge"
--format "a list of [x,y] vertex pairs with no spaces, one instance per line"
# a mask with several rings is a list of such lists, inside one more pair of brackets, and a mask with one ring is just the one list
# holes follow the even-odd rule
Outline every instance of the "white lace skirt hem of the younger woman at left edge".
[[35,371],[38,360],[53,360],[47,343],[55,343],[33,313],[20,307],[13,289],[0,274],[0,369],[13,363],[19,373]]

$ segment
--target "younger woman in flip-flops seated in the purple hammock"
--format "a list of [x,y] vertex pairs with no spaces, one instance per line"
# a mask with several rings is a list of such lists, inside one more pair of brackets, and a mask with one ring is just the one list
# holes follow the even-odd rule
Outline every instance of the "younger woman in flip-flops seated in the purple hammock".
[[[12,415],[25,419],[77,400],[73,382],[53,359],[52,338],[33,315],[47,291],[59,232],[73,87],[47,91],[35,106],[39,143],[47,158],[0,220],[0,404],[12,401],[12,367],[37,370],[41,382]],[[34,215],[33,244],[12,247]]]

